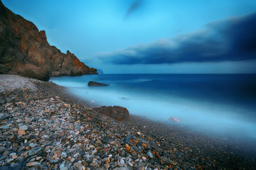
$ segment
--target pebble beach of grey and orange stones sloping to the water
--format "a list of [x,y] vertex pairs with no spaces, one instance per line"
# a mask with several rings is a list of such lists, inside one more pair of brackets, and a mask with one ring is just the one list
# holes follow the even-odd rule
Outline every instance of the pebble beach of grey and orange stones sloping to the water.
[[244,149],[130,115],[52,82],[0,75],[0,169],[256,169]]

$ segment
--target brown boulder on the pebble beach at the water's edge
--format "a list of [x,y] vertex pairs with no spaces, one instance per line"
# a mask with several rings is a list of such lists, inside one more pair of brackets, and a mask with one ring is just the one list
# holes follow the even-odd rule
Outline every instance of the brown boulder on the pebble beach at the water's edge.
[[100,108],[93,108],[94,111],[101,113],[103,115],[110,116],[116,120],[128,120],[129,111],[127,108],[122,106],[102,106]]

